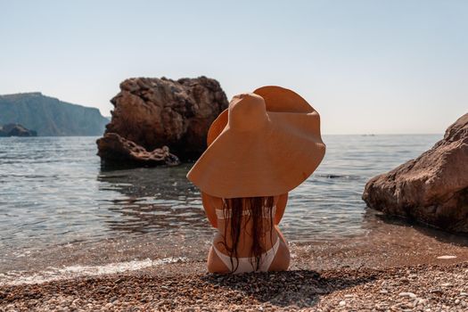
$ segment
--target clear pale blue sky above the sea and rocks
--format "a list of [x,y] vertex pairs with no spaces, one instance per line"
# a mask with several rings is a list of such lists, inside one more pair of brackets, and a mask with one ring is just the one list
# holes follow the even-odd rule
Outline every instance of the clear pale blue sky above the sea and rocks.
[[[468,1],[0,0],[0,94],[110,115],[130,77],[295,90],[324,134],[442,133],[468,112]],[[0,111],[1,113],[1,111]]]

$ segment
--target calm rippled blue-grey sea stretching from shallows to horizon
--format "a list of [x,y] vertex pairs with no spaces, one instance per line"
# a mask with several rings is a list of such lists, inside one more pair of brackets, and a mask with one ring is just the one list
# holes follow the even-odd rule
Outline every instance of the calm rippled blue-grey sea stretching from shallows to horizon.
[[[374,225],[365,182],[442,135],[324,135],[314,175],[290,193],[291,241],[363,234]],[[175,168],[104,170],[97,137],[0,138],[0,248],[46,248],[124,235],[211,235],[200,194]],[[371,212],[369,212],[371,211]]]

